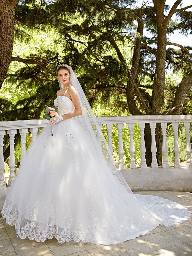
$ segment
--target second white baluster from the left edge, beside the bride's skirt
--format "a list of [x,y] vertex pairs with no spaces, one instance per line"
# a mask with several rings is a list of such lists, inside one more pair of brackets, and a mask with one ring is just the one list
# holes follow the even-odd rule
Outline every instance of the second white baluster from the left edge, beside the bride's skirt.
[[10,168],[10,176],[9,176],[9,181],[8,185],[10,186],[14,179],[15,179],[15,150],[14,150],[14,138],[17,130],[8,130],[7,133],[9,134],[10,137],[10,158],[9,158],[9,168]]

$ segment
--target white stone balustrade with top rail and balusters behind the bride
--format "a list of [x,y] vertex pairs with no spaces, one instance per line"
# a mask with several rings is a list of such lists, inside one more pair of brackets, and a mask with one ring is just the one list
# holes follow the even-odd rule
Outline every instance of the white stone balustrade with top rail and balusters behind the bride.
[[[119,147],[118,147],[118,153],[119,153],[119,169],[122,170],[122,173],[124,176],[127,175],[128,170],[144,170],[148,169],[146,165],[146,158],[145,158],[145,140],[144,140],[144,128],[145,124],[149,123],[150,129],[151,129],[151,136],[152,136],[152,146],[151,146],[151,152],[152,152],[152,165],[151,169],[157,170],[160,167],[158,167],[157,159],[156,159],[156,153],[157,153],[157,147],[155,142],[155,127],[156,123],[161,123],[162,128],[162,136],[163,136],[163,146],[162,146],[162,152],[163,152],[163,165],[162,169],[170,168],[167,160],[167,123],[172,123],[173,131],[174,131],[174,153],[175,153],[175,164],[174,168],[181,169],[180,161],[179,161],[179,141],[178,141],[178,127],[179,123],[184,124],[185,128],[185,134],[186,134],[186,154],[187,154],[187,164],[186,169],[192,170],[192,162],[191,162],[191,144],[190,144],[190,122],[192,122],[192,115],[156,115],[156,116],[110,116],[110,117],[97,117],[99,126],[102,128],[102,125],[107,126],[107,133],[108,133],[108,145],[113,152],[113,145],[112,145],[112,128],[113,124],[117,124],[117,129],[119,132]],[[5,135],[5,132],[7,131],[7,134],[10,137],[10,160],[9,160],[9,167],[10,167],[10,179],[8,181],[8,185],[11,185],[13,180],[15,179],[15,152],[14,152],[14,137],[17,132],[17,129],[19,129],[19,134],[21,135],[21,162],[26,157],[26,134],[28,132],[28,129],[30,129],[32,134],[32,140],[35,140],[37,137],[37,132],[39,128],[44,128],[47,125],[48,121],[45,119],[39,119],[39,120],[21,120],[21,121],[6,121],[6,122],[0,122],[0,188],[5,188],[6,183],[4,182],[3,172],[4,172],[4,159],[3,159],[3,138]],[[141,152],[141,161],[140,161],[140,167],[138,168],[135,163],[135,147],[134,147],[134,124],[138,124],[140,128],[140,152]],[[130,169],[125,169],[124,160],[123,160],[123,154],[124,154],[124,148],[123,148],[123,141],[127,140],[127,138],[124,138],[122,135],[123,125],[127,124],[129,129],[129,140],[130,140]],[[98,137],[98,140],[100,138]],[[166,169],[167,170],[167,169]],[[126,179],[127,180],[127,179]]]

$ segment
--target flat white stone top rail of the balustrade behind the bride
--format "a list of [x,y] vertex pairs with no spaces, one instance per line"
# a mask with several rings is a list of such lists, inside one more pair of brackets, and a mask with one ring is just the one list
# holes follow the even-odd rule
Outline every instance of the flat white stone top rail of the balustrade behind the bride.
[[[192,122],[192,115],[99,116],[96,118],[100,124]],[[46,119],[3,121],[0,122],[0,131],[10,129],[45,127],[48,122],[49,121]]]

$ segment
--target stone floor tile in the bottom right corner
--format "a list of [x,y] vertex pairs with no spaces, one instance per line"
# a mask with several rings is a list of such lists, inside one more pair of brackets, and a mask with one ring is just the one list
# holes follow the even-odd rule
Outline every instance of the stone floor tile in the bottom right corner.
[[167,256],[191,256],[192,255],[192,247],[183,243],[180,245],[174,245],[165,249],[161,249]]

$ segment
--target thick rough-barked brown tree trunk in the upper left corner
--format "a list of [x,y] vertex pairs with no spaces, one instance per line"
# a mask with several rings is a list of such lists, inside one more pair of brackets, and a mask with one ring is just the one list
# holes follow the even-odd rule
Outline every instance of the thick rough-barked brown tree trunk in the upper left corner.
[[3,0],[0,3],[0,89],[11,62],[15,6],[18,2]]

